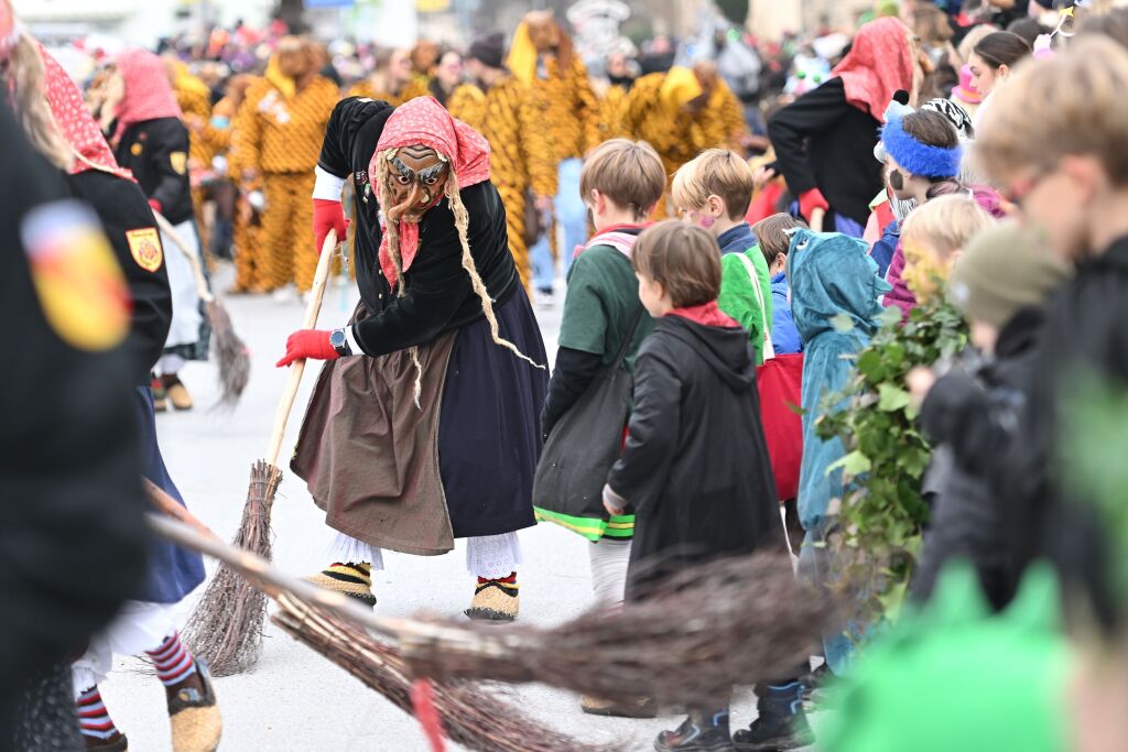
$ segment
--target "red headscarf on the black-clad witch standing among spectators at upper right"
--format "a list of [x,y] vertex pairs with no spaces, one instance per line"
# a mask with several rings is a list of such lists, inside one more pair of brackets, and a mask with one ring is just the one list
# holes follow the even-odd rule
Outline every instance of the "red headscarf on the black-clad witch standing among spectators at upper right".
[[846,101],[883,123],[893,94],[913,90],[914,64],[908,27],[897,18],[878,18],[858,29],[830,74],[843,80]]

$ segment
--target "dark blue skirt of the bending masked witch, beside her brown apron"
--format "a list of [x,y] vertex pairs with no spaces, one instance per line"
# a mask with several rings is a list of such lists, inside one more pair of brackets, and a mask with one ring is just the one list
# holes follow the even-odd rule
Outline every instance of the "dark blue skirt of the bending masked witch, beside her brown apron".
[[501,337],[546,368],[495,344],[485,319],[459,329],[439,419],[439,470],[455,538],[536,524],[532,477],[548,359],[525,287],[494,313]]

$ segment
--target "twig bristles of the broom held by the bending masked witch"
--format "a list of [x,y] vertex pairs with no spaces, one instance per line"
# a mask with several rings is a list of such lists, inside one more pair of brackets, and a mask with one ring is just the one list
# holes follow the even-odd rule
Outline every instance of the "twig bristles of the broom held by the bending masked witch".
[[[231,545],[271,558],[271,508],[282,471],[263,460],[250,468],[243,521]],[[253,670],[263,653],[266,595],[227,564],[220,564],[188,617],[184,638],[188,649],[208,661],[215,676]]]

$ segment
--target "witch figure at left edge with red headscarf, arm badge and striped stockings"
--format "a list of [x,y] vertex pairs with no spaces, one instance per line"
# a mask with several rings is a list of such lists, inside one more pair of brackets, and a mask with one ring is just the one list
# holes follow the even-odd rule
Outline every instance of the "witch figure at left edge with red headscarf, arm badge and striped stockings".
[[[149,371],[161,357],[174,318],[166,257],[152,210],[133,175],[114,159],[63,68],[29,37],[21,44],[25,51],[10,65],[21,69],[15,79],[35,82],[34,96],[18,90],[25,127],[41,151],[63,170],[73,197],[97,214],[129,285],[130,331],[122,348],[130,357],[135,387],[138,468],[183,505],[157,443],[149,387]],[[88,750],[127,749],[98,685],[109,674],[114,654],[144,654],[165,687],[175,752],[214,750],[222,733],[215,695],[206,665],[180,643],[175,612],[176,604],[203,582],[203,560],[194,551],[150,541],[147,569],[144,587],[73,662],[79,731]]]

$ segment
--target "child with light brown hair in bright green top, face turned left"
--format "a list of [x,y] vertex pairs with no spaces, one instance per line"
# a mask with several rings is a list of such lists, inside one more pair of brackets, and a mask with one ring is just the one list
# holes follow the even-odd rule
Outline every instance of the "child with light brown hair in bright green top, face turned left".
[[756,363],[764,362],[770,327],[772,293],[767,263],[744,221],[756,176],[738,154],[708,149],[673,176],[673,203],[682,219],[704,228],[721,247],[721,310],[748,330]]

